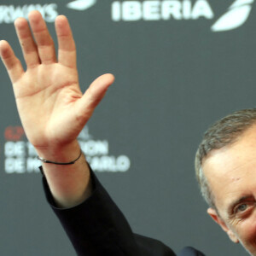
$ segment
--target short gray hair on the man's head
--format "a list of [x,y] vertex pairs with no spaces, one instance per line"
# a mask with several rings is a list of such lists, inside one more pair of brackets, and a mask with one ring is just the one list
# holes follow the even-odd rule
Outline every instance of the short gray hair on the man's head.
[[202,170],[202,161],[213,150],[236,143],[244,131],[256,123],[256,108],[243,109],[218,120],[204,134],[195,154],[195,174],[201,195],[209,207],[217,210],[214,195]]

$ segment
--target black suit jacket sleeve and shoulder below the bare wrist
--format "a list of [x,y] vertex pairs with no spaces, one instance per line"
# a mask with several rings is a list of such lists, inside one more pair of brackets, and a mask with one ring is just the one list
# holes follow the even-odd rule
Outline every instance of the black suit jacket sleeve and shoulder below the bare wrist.
[[[80,256],[175,256],[161,241],[134,234],[125,216],[91,172],[94,186],[89,199],[76,207],[60,209],[44,181],[44,191],[67,236]],[[178,256],[204,256],[185,247]]]

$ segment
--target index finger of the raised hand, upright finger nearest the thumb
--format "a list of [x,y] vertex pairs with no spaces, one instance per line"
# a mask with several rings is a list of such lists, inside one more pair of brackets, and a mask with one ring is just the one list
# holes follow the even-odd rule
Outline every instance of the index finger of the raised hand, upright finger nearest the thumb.
[[55,20],[55,30],[58,38],[58,61],[67,67],[76,67],[76,46],[71,28],[65,16],[58,16]]

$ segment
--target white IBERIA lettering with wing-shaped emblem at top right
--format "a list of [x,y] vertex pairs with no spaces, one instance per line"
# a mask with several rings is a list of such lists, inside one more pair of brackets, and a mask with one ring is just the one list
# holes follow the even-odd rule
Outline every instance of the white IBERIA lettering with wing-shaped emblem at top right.
[[[222,32],[242,26],[249,17],[254,0],[236,0],[212,25],[212,32]],[[170,1],[114,1],[113,21],[135,20],[212,20],[214,13],[207,0]]]

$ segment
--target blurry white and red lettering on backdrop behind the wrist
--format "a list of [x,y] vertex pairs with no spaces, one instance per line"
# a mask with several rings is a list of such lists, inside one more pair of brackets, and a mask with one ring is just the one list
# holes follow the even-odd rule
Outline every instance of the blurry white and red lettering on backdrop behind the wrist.
[[[22,126],[9,126],[4,132],[4,169],[8,174],[39,172],[41,161],[32,144],[26,140]],[[79,134],[79,144],[95,172],[127,172],[131,160],[125,154],[113,156],[109,154],[108,140],[96,140],[88,126]]]

